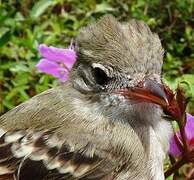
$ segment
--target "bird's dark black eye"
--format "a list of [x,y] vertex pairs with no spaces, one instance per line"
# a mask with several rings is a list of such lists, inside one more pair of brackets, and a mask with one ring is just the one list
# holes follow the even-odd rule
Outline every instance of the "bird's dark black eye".
[[106,75],[106,73],[98,67],[93,68],[93,76],[96,80],[96,83],[99,85],[104,85],[109,80],[109,77]]

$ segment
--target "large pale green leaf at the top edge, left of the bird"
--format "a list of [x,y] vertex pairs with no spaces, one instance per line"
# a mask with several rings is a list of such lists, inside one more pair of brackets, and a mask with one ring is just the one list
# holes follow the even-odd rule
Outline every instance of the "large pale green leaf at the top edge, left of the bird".
[[30,17],[31,18],[37,18],[41,16],[46,9],[53,4],[52,0],[40,0],[38,1],[31,9],[30,11]]

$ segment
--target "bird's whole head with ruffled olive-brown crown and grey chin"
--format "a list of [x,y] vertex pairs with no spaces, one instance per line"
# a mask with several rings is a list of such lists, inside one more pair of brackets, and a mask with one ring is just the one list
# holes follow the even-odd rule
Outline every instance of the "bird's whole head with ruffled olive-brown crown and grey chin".
[[91,107],[97,106],[107,116],[127,119],[130,114],[144,118],[145,110],[157,108],[130,100],[121,93],[142,83],[154,95],[164,98],[158,85],[164,51],[158,36],[144,22],[120,23],[105,16],[80,30],[77,52],[78,61],[71,74],[73,86]]

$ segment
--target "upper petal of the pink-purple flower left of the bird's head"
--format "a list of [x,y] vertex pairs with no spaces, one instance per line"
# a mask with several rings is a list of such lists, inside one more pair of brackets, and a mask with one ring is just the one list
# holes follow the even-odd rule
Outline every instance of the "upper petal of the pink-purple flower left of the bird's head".
[[39,45],[40,54],[49,61],[64,63],[69,70],[76,61],[76,52],[73,49],[56,48],[53,46]]

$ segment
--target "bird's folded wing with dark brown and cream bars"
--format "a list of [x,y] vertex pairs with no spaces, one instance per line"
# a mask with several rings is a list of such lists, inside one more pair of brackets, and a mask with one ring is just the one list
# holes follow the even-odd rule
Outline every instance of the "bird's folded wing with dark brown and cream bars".
[[90,143],[77,146],[54,131],[1,131],[0,180],[103,179],[114,165]]

